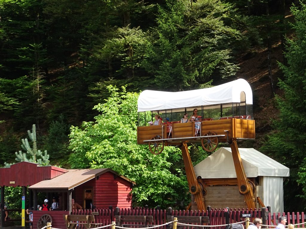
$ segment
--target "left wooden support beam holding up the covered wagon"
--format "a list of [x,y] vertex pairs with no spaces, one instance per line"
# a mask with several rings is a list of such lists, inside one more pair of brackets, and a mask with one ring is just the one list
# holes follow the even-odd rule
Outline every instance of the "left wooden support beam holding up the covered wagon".
[[202,189],[198,183],[198,180],[196,179],[196,174],[192,166],[191,158],[188,151],[188,146],[186,143],[183,143],[181,145],[181,150],[186,170],[187,181],[189,185],[189,191],[191,194],[194,195],[195,202],[198,206],[198,210],[205,211],[206,209],[205,209],[204,196],[202,193]]

